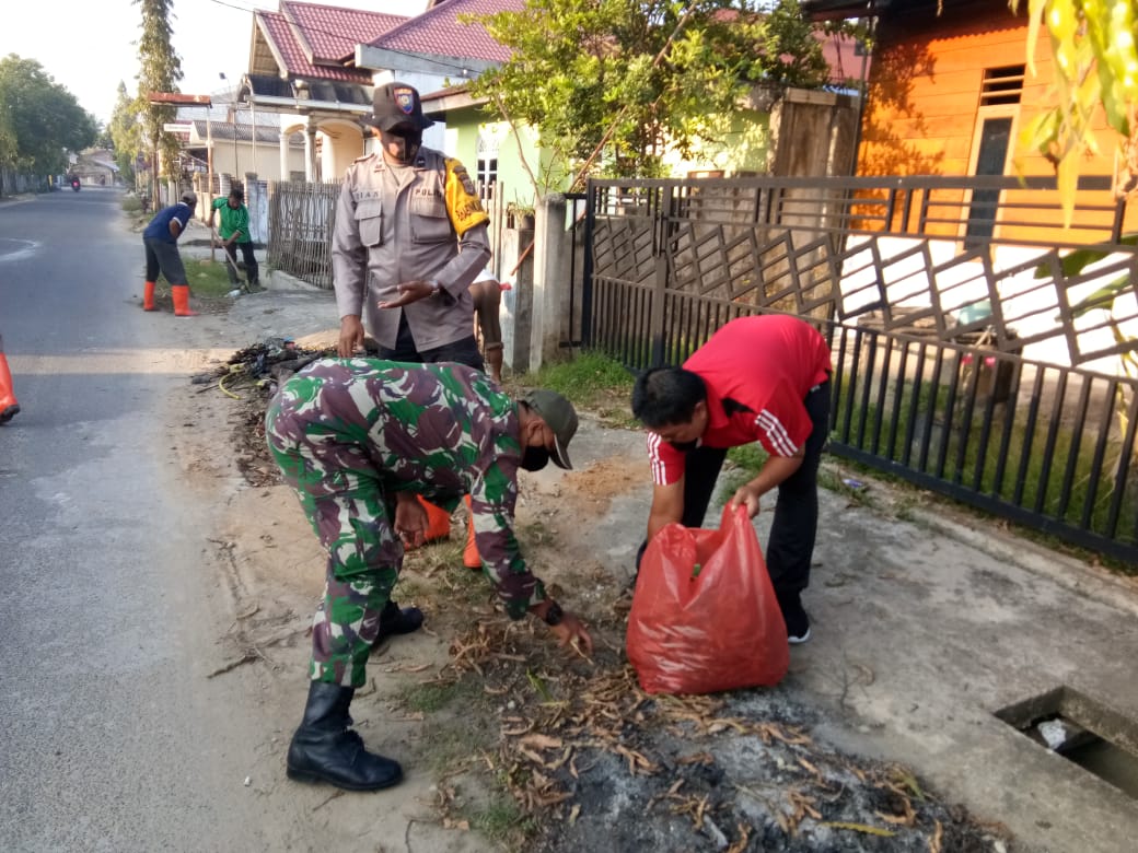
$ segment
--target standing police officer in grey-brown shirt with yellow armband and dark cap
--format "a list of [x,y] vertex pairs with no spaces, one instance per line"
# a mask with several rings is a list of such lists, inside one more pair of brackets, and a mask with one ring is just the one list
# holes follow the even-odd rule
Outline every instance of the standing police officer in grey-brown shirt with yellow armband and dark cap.
[[[490,257],[489,216],[475,182],[459,160],[422,147],[423,130],[434,122],[423,115],[413,86],[377,86],[372,114],[363,122],[379,140],[379,151],[348,167],[337,201],[338,355],[348,358],[363,347],[366,324],[382,359],[459,362],[484,370],[469,288]],[[432,530],[450,532],[450,513],[423,506]],[[473,562],[473,525],[468,528]],[[401,610],[388,602],[380,637],[414,631],[422,619],[417,607]]]

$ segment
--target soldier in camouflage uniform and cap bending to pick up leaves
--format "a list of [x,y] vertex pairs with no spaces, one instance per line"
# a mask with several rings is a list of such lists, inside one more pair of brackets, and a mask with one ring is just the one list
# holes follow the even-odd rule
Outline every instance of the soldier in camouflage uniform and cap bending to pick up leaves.
[[550,457],[570,467],[566,448],[576,430],[560,395],[534,391],[514,403],[457,364],[329,358],[284,383],[265,415],[269,448],[329,555],[290,778],[349,790],[402,778],[398,763],[363,748],[348,705],[382,632],[403,547],[422,544],[427,530],[417,495],[454,508],[469,494],[486,572],[506,613],[534,613],[562,645],[592,648],[584,626],[529,572],[512,531],[518,469]]

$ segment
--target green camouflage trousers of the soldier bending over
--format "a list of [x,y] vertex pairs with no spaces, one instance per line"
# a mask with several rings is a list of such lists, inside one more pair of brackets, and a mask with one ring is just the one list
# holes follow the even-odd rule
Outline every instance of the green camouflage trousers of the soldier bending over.
[[[329,425],[298,424],[279,397],[265,414],[269,450],[328,550],[324,599],[312,626],[313,681],[362,687],[379,619],[403,565],[394,496],[366,449]],[[299,429],[298,429],[299,428]]]

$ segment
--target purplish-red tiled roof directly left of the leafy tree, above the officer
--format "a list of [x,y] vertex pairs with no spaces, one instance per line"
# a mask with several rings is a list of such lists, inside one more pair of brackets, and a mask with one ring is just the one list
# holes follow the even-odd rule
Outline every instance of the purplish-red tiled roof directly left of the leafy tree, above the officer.
[[525,6],[525,0],[446,0],[370,43],[382,50],[504,63],[510,49],[494,41],[479,24],[460,23],[459,16],[521,11]]

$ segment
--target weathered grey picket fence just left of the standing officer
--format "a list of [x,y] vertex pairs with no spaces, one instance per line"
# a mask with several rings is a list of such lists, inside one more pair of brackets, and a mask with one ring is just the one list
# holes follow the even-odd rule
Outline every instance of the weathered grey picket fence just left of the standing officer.
[[332,287],[332,229],[340,182],[274,181],[269,193],[269,264],[320,288]]

